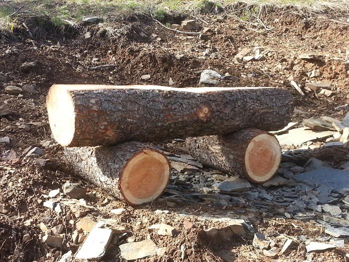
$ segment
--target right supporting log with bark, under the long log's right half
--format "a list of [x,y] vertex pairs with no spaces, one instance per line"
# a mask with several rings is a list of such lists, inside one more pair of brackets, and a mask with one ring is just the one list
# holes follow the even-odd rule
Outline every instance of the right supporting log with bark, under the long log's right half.
[[201,163],[254,183],[271,179],[281,161],[281,147],[275,136],[254,128],[229,135],[187,138],[186,146]]

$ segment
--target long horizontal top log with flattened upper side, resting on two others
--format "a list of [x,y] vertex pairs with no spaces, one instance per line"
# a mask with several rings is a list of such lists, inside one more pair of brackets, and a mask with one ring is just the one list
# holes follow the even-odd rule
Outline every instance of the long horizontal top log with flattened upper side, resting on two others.
[[53,85],[46,105],[54,138],[70,147],[278,130],[293,112],[289,91],[272,87]]

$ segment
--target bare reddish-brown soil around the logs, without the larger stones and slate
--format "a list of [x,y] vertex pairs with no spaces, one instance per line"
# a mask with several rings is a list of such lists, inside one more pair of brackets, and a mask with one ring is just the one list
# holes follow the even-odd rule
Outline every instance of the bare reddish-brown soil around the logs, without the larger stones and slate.
[[[238,10],[237,10],[238,12]],[[184,17],[167,17],[164,23],[180,23]],[[192,17],[188,17],[192,18]],[[79,27],[54,27],[42,18],[23,20],[25,25],[15,28],[13,33],[0,32],[0,82],[5,85],[34,85],[35,94],[25,93],[21,97],[7,94],[0,86],[0,105],[7,104],[11,111],[0,118],[0,137],[8,136],[9,145],[0,147],[0,154],[14,150],[21,159],[12,164],[0,158],[0,204],[10,212],[0,214],[0,262],[58,261],[68,250],[77,250],[70,236],[74,221],[79,218],[70,213],[60,216],[42,206],[42,195],[61,188],[65,181],[77,182],[88,189],[86,201],[96,210],[87,214],[95,221],[112,218],[130,229],[129,237],[135,241],[145,240],[150,234],[153,241],[167,247],[167,255],[143,261],[181,261],[179,247],[187,246],[184,261],[222,261],[212,243],[205,239],[202,230],[209,225],[201,224],[197,216],[221,215],[229,218],[245,218],[263,233],[288,234],[308,237],[322,234],[322,229],[312,222],[282,220],[275,214],[249,210],[246,206],[228,206],[225,210],[200,200],[188,200],[180,206],[168,207],[163,198],[139,208],[132,208],[107,193],[100,191],[80,177],[71,174],[60,157],[58,145],[45,149],[50,161],[45,167],[21,156],[29,146],[41,147],[40,142],[51,139],[45,109],[45,96],[54,83],[61,84],[155,84],[174,87],[196,87],[200,73],[213,69],[222,75],[228,73],[236,79],[223,80],[220,86],[280,86],[288,88],[294,95],[295,113],[293,120],[311,116],[332,116],[342,119],[346,111],[335,107],[347,103],[349,98],[349,15],[338,10],[320,13],[300,11],[297,8],[278,9],[270,7],[262,15],[262,23],[248,24],[235,15],[200,14],[196,19],[203,27],[209,27],[200,38],[170,31],[147,17],[131,17],[129,20],[112,24],[102,23]],[[42,22],[45,21],[45,22]],[[264,25],[263,25],[264,24]],[[266,26],[269,30],[266,30]],[[90,37],[86,38],[86,33]],[[269,50],[264,61],[239,63],[235,55],[245,47],[263,47]],[[6,50],[11,49],[11,52]],[[299,55],[312,53],[320,60],[306,61]],[[39,61],[32,72],[24,73],[19,67],[24,62]],[[91,71],[89,67],[114,64],[114,69]],[[320,69],[320,76],[310,79],[308,73]],[[142,79],[142,75],[150,75]],[[330,82],[334,94],[331,97],[317,96],[305,91],[301,96],[289,83],[290,77],[304,89],[309,80]],[[64,116],[62,116],[64,117]],[[19,128],[16,123],[27,123],[30,130]],[[191,192],[183,189],[183,194]],[[167,193],[165,193],[166,196]],[[105,201],[108,199],[108,201]],[[110,209],[125,208],[121,216],[110,214]],[[168,214],[156,215],[156,210],[169,210]],[[178,216],[189,214],[188,218]],[[33,219],[31,225],[24,222]],[[185,229],[183,222],[191,221],[194,226]],[[73,223],[71,222],[73,221]],[[65,225],[67,239],[61,249],[43,244],[39,238],[40,228],[57,224]],[[149,233],[152,224],[166,222],[179,231],[176,238],[159,237]],[[31,240],[23,242],[24,235]],[[254,252],[250,240],[237,240],[232,252],[234,261],[304,261],[305,253],[299,250],[281,255],[273,260]],[[304,247],[303,247],[304,248]],[[349,246],[336,251],[318,254],[313,261],[345,261]],[[117,252],[117,251],[116,251]],[[115,261],[113,257],[110,261]],[[346,260],[347,261],[347,260]]]

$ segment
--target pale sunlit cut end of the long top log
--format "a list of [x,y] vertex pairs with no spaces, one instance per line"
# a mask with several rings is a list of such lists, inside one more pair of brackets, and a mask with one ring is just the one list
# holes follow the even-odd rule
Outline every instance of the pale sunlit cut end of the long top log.
[[68,146],[74,137],[74,102],[65,88],[53,85],[46,97],[46,106],[50,128],[55,140],[62,146]]

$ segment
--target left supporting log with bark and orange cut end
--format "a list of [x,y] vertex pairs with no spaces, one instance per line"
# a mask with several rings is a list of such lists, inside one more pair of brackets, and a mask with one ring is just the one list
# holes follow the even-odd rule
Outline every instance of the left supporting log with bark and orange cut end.
[[170,163],[150,144],[64,148],[64,161],[76,174],[129,205],[156,200],[170,181]]

